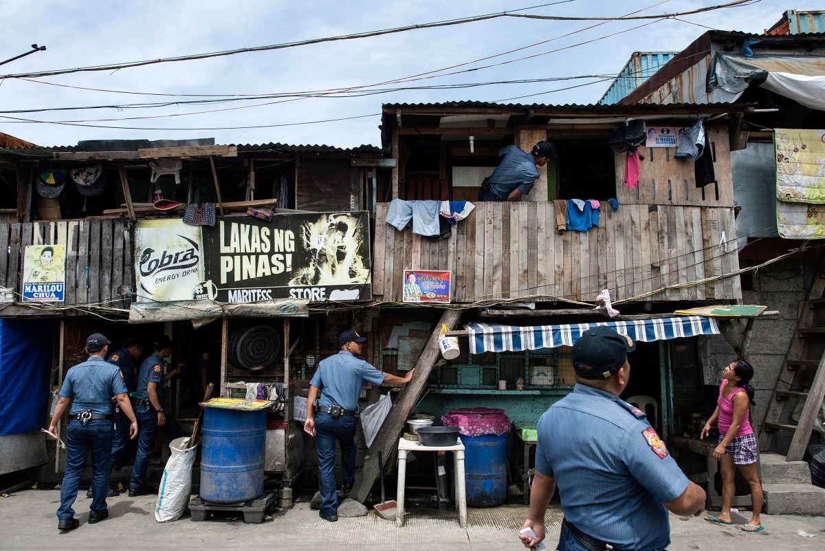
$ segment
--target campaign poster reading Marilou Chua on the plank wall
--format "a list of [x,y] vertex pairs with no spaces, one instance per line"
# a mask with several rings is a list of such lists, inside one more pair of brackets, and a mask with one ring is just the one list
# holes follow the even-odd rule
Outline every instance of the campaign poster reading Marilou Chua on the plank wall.
[[23,258],[23,302],[63,302],[66,246],[27,245]]

